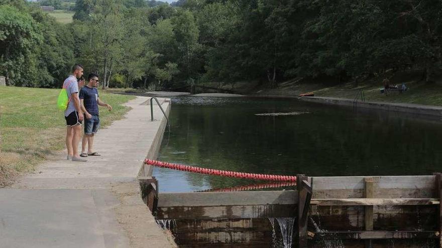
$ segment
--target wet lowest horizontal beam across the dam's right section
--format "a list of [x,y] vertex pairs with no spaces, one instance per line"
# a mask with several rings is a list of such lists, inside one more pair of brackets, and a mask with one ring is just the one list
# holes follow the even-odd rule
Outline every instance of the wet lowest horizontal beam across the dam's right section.
[[314,234],[315,240],[437,238],[434,231],[330,231]]

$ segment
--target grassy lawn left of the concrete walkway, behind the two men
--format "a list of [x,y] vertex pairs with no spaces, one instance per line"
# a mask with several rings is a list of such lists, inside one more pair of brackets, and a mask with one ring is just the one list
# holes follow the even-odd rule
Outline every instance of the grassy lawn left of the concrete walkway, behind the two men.
[[[32,171],[46,155],[65,148],[66,122],[56,107],[59,89],[0,86],[0,187],[14,175]],[[129,110],[121,104],[134,99],[101,93],[113,111],[100,107],[102,127]]]

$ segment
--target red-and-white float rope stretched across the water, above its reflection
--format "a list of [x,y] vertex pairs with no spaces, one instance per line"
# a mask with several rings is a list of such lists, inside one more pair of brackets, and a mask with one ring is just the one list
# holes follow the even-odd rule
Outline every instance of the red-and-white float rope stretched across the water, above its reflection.
[[150,164],[153,166],[163,167],[163,168],[182,170],[182,171],[188,171],[188,172],[195,172],[195,173],[206,174],[206,175],[227,176],[227,177],[247,178],[247,179],[255,179],[255,180],[266,180],[266,181],[296,182],[296,176],[268,175],[268,174],[255,174],[255,173],[226,171],[226,170],[215,170],[215,169],[194,167],[194,166],[189,166],[189,165],[184,165],[184,164],[174,164],[174,163],[162,162],[162,161],[151,160],[151,159],[146,159],[144,161],[144,163]]

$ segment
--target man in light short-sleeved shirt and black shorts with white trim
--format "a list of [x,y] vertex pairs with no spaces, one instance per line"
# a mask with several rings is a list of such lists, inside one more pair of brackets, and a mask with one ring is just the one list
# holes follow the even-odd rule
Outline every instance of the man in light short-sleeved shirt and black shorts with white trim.
[[78,98],[78,88],[84,85],[84,80],[78,81],[83,76],[83,66],[74,65],[72,74],[64,81],[63,88],[66,89],[69,103],[64,118],[66,119],[66,148],[67,159],[72,161],[85,162],[87,160],[80,157],[78,153],[78,143],[81,139],[81,123],[83,121],[83,112]]

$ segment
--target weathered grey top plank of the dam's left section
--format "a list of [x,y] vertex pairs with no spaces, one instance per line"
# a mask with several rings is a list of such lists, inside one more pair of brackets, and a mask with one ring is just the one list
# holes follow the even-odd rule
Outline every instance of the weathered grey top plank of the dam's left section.
[[158,207],[295,204],[295,190],[159,193]]

